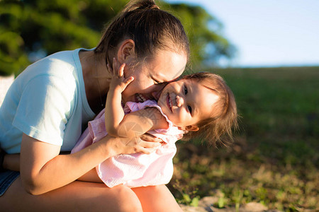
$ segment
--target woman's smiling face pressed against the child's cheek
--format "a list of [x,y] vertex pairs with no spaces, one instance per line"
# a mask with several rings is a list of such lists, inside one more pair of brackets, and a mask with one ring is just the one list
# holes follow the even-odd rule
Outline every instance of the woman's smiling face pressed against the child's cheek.
[[165,82],[174,81],[183,73],[186,61],[185,54],[159,50],[152,59],[142,61],[134,70],[125,62],[124,76],[133,76],[134,81],[123,91],[123,102],[157,100]]

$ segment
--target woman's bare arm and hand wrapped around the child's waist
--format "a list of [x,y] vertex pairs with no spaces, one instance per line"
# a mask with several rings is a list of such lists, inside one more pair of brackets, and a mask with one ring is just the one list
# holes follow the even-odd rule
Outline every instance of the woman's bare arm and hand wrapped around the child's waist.
[[21,181],[30,194],[43,194],[78,179],[93,167],[120,153],[150,153],[159,143],[133,139],[126,145],[111,136],[70,155],[59,155],[60,146],[23,134],[21,143]]

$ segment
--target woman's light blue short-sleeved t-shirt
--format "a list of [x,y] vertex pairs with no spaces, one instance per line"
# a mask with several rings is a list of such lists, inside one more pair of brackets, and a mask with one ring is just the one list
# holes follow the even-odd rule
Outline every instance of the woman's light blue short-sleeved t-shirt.
[[4,151],[20,153],[22,133],[72,150],[95,116],[86,100],[80,50],[45,57],[16,78],[0,107]]

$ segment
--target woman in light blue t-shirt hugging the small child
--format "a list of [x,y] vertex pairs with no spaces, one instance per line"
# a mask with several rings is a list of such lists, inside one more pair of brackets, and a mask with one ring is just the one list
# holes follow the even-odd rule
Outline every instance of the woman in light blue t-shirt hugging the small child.
[[59,153],[73,148],[86,123],[103,108],[109,84],[106,63],[112,65],[113,57],[126,64],[125,78],[135,78],[123,92],[123,102],[136,102],[157,99],[164,82],[184,71],[188,56],[180,21],[154,1],[144,0],[116,16],[94,51],[58,52],[28,66],[13,82],[0,109],[1,148],[9,153],[4,167],[18,169],[10,154],[21,153],[21,176],[13,181],[17,172],[0,175],[1,180],[13,181],[0,197],[1,209],[181,211],[164,185],[108,189],[75,181],[113,155],[150,153],[159,145],[150,136],[127,145],[106,136],[78,153]]

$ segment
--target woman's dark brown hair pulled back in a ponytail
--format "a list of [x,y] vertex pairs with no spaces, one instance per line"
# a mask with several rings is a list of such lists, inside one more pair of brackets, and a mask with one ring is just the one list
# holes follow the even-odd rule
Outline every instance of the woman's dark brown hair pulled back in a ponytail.
[[135,42],[138,60],[151,57],[159,49],[189,58],[189,41],[183,25],[152,0],[130,1],[106,27],[94,52],[106,54],[106,62],[112,64],[113,54],[125,39]]

